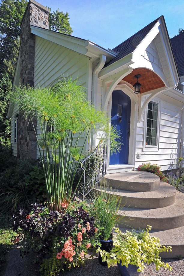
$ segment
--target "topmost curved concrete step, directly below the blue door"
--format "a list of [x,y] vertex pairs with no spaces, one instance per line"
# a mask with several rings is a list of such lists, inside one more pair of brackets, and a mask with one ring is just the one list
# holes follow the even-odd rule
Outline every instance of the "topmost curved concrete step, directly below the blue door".
[[101,181],[110,183],[115,189],[134,192],[155,191],[160,186],[160,178],[157,175],[142,171],[110,173]]

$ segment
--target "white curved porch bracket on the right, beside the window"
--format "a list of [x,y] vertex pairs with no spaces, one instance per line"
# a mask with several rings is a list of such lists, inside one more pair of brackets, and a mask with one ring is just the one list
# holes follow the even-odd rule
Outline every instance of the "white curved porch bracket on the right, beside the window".
[[[147,104],[154,98],[156,97],[158,94],[160,94],[161,92],[165,91],[169,89],[169,87],[164,86],[161,88],[157,88],[155,90],[149,91],[149,92],[145,92],[142,94],[139,94],[139,114],[138,114],[138,122],[141,122],[143,119],[143,112],[144,109],[146,108]],[[147,99],[142,103],[142,97],[145,97],[146,95],[149,95],[147,97]]]

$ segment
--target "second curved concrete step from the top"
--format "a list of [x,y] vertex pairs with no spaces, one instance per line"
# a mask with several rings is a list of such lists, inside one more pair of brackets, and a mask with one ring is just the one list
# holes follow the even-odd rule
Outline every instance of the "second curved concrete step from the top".
[[[96,191],[100,191],[98,186]],[[174,204],[176,189],[166,182],[161,181],[160,187],[150,192],[123,191],[122,189],[107,190],[108,193],[116,192],[122,197],[122,205],[131,208],[162,208]]]

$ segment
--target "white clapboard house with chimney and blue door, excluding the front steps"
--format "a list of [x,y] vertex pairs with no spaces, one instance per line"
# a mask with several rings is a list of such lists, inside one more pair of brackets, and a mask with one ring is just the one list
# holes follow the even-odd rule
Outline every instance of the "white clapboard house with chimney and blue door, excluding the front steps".
[[[13,88],[52,86],[62,75],[78,78],[88,100],[104,108],[122,131],[121,152],[110,156],[107,151],[107,173],[136,170],[143,162],[157,163],[163,171],[176,169],[183,156],[183,34],[170,40],[161,16],[110,50],[49,30],[48,14],[48,8],[29,1]],[[134,93],[135,75],[141,75],[140,94]],[[13,154],[37,158],[34,131],[11,102],[8,117]]]

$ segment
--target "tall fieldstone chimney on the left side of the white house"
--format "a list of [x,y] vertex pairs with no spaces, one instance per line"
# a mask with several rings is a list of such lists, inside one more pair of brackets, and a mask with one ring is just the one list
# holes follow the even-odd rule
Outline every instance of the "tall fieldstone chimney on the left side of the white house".
[[[20,33],[20,83],[34,87],[35,70],[35,35],[31,33],[30,25],[49,29],[50,9],[34,0],[29,0],[21,21]],[[36,129],[37,121],[34,120]],[[36,159],[37,142],[32,122],[26,122],[19,111],[17,124],[17,157]]]

